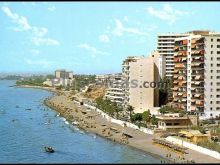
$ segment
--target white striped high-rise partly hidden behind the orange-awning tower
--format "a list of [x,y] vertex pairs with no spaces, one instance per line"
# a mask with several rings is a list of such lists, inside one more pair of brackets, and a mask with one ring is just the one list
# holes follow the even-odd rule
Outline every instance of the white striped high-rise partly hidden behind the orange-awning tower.
[[[160,56],[165,57],[165,73],[163,76],[172,77],[174,71],[174,42],[175,38],[183,37],[185,34],[164,33],[157,36],[157,51]],[[163,77],[162,77],[163,78]]]

